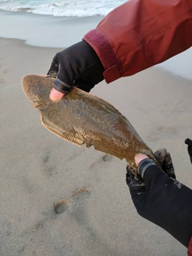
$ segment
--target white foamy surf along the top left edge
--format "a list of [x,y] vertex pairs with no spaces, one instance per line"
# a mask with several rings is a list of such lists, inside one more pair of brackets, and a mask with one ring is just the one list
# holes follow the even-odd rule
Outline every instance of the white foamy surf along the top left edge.
[[44,14],[66,17],[105,16],[115,7],[126,2],[125,0],[68,0],[52,2],[46,1],[0,1],[0,10],[24,11],[34,14]]

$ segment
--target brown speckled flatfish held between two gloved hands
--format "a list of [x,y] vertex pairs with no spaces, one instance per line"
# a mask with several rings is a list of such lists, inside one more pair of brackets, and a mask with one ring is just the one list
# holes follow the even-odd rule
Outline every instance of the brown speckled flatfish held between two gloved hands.
[[22,78],[22,89],[38,109],[42,125],[78,146],[94,146],[106,154],[126,158],[134,166],[134,155],[156,158],[130,122],[110,103],[75,87],[57,102],[50,101],[54,78],[29,74]]

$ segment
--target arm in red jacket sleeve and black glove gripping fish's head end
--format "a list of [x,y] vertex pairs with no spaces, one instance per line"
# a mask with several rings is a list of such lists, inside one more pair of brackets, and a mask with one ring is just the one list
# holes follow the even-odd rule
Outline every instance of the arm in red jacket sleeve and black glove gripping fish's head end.
[[79,88],[90,90],[103,78],[113,82],[164,62],[192,46],[191,30],[190,0],[130,0],[90,30],[83,47],[79,42],[56,54],[49,72],[56,63],[59,93],[50,98],[69,92],[78,79]]

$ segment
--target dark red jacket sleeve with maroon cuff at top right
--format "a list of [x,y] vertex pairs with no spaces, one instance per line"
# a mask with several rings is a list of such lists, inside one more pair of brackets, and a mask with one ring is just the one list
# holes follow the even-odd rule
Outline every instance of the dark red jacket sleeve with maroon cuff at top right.
[[106,82],[136,74],[192,46],[192,1],[130,0],[83,40],[101,59]]

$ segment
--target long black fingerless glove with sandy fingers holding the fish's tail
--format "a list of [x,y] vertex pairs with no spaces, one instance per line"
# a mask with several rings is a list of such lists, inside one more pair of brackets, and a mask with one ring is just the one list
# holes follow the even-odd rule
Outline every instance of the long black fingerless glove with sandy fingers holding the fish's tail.
[[169,177],[170,169],[173,175],[169,154],[163,162],[163,166],[169,166],[168,171],[163,167],[164,172],[160,170],[151,159],[142,160],[137,177],[127,166],[126,183],[138,214],[187,247],[192,236],[192,190]]

